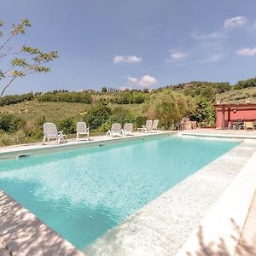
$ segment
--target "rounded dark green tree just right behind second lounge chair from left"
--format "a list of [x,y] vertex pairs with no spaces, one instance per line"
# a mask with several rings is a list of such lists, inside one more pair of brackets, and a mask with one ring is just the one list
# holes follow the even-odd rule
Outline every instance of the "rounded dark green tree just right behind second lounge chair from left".
[[90,129],[96,129],[108,120],[110,113],[110,108],[98,103],[89,108],[87,113],[84,115],[84,120],[88,123]]

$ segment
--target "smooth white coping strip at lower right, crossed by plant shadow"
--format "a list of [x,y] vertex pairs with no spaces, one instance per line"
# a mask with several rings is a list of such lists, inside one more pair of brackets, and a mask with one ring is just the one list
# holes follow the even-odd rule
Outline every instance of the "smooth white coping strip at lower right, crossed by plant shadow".
[[255,162],[256,152],[237,173],[211,211],[202,219],[201,224],[195,228],[177,256],[194,256],[204,253],[205,250],[218,253],[221,241],[225,245],[223,253],[235,255],[256,189],[256,183],[253,183],[256,179],[256,172],[253,172]]

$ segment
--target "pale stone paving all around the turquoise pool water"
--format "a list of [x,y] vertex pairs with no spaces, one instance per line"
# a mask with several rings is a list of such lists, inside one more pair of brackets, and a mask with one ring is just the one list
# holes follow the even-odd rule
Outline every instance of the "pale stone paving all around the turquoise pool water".
[[[190,132],[200,133],[201,136],[205,136],[206,132],[217,132],[201,130]],[[250,244],[253,239],[252,230],[256,230],[256,213],[248,213],[249,210],[253,211],[251,203],[256,187],[256,132],[252,132],[250,139],[246,137],[247,139],[236,148],[232,148],[151,201],[89,247],[85,247],[83,253],[168,256],[255,255],[252,253],[254,244]],[[230,133],[225,131],[218,131],[216,134],[227,139],[230,137]],[[224,136],[225,134],[228,136]],[[246,135],[247,133],[243,134]],[[102,143],[106,140],[109,140],[109,137],[94,137],[93,142]],[[116,139],[112,139],[114,140]],[[67,144],[78,145],[74,141]],[[24,150],[29,152],[38,148],[61,150],[61,147],[66,146],[42,146],[38,143],[0,148],[0,154],[20,154]],[[248,229],[252,232],[247,232]],[[222,254],[219,254],[219,247],[223,248]],[[20,256],[84,255],[9,195],[0,191],[0,255],[10,255],[9,251]]]

